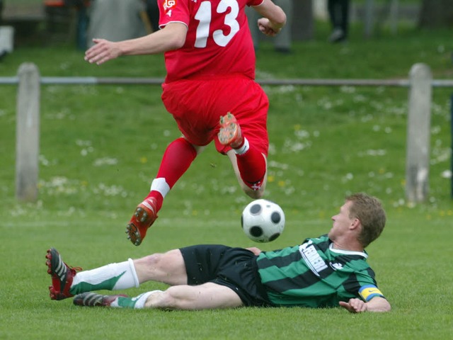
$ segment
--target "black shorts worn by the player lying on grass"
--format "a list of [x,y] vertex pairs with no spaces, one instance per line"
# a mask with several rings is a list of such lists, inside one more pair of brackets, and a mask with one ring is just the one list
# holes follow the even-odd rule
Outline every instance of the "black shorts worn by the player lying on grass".
[[246,306],[270,306],[251,251],[219,244],[187,246],[180,251],[188,285],[217,283],[234,290]]

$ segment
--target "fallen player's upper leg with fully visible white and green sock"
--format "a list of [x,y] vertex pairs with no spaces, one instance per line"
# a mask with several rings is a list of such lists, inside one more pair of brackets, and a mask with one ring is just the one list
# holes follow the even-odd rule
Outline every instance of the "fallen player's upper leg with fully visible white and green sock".
[[169,285],[187,283],[185,263],[179,249],[142,259],[110,263],[79,273],[76,273],[76,268],[67,266],[54,248],[47,251],[46,259],[47,272],[52,276],[52,285],[49,287],[52,300],[63,300],[92,290],[137,288],[148,280]]

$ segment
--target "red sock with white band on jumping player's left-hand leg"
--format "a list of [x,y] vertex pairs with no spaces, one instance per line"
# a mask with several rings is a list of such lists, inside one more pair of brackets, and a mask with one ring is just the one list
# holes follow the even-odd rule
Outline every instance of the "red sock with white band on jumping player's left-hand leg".
[[[183,137],[173,140],[164,152],[156,179],[165,179],[168,186],[173,188],[178,179],[189,169],[195,157],[197,157],[197,151],[190,142]],[[164,196],[159,191],[151,191],[147,198],[149,197],[156,198],[156,208],[160,210]]]

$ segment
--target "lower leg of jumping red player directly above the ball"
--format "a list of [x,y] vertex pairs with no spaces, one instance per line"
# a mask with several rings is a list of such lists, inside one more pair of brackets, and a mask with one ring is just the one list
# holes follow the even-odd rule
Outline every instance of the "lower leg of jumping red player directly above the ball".
[[[264,154],[256,154],[254,155],[255,157],[249,157],[249,158],[241,158],[241,156],[237,155],[234,152],[234,149],[229,150],[226,152],[226,155],[229,157],[229,160],[231,161],[231,165],[233,166],[234,169],[234,174],[236,174],[236,178],[239,181],[239,185],[241,186],[242,190],[244,193],[246,193],[247,196],[253,198],[253,199],[258,199],[263,197],[263,193],[266,188],[266,184],[268,182],[268,171],[267,171],[267,159]],[[260,186],[256,186],[256,188],[251,188],[251,186],[248,186],[248,184],[244,183],[243,176],[241,174],[246,174],[248,178],[250,178],[253,181],[253,174],[248,171],[248,169],[260,169],[262,168],[262,164],[256,166],[256,164],[260,163],[260,157],[264,159],[264,171],[265,174],[263,176],[263,179],[259,182]],[[243,162],[241,162],[243,161]],[[248,164],[248,162],[251,162],[251,164]],[[242,172],[239,170],[239,165],[241,164],[242,166]],[[258,176],[255,176],[255,178],[259,177],[259,172]],[[249,182],[250,183],[250,182]]]

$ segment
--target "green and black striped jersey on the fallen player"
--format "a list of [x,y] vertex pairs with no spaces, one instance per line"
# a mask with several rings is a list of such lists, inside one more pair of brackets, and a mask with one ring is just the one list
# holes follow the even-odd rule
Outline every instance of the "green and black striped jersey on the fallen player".
[[261,252],[258,273],[273,305],[336,307],[352,297],[383,297],[367,257],[366,251],[333,249],[323,235],[299,246]]

